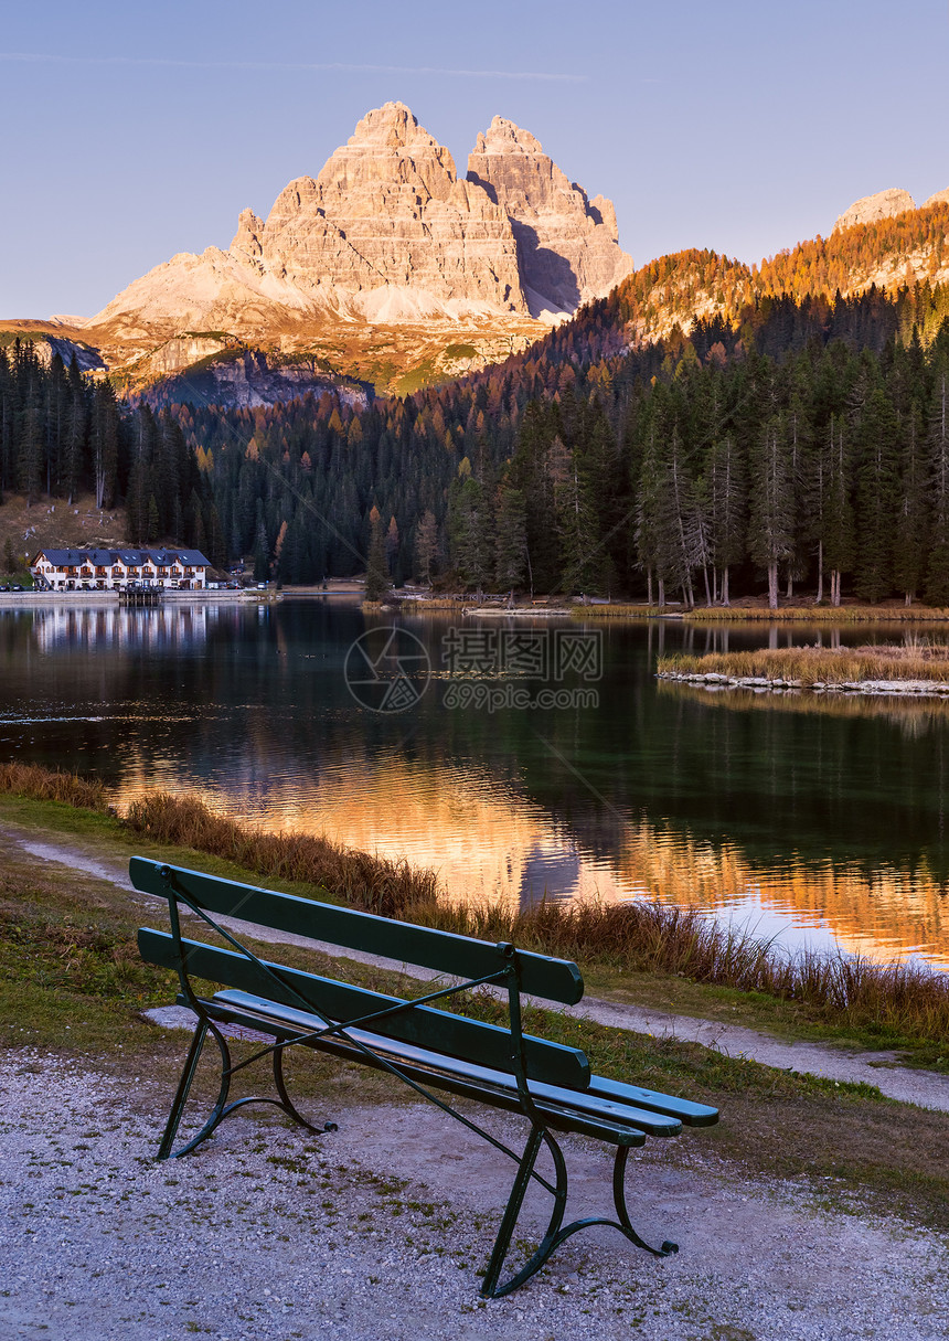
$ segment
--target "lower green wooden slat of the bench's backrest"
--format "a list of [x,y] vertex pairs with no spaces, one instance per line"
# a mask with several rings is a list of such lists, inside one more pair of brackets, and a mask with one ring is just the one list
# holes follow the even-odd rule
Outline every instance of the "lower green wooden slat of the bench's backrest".
[[[261,960],[276,978],[265,972],[251,959],[232,949],[220,949],[201,941],[182,937],[188,974],[192,978],[208,979],[237,987],[255,996],[265,996],[280,1006],[299,1008],[314,1007],[330,1019],[361,1019],[387,1006],[397,1006],[398,996],[371,992],[350,983],[338,983],[316,974],[306,974],[298,968],[287,968],[269,960]],[[174,937],[169,932],[139,928],[138,949],[149,964],[165,968],[178,967],[178,952]],[[511,1034],[495,1025],[452,1015],[449,1011],[432,1006],[414,1006],[401,1011],[374,1026],[379,1033],[406,1043],[420,1043],[461,1057],[468,1062],[479,1062],[497,1070],[511,1070]],[[570,1089],[586,1089],[590,1084],[590,1062],[576,1047],[550,1043],[543,1038],[524,1035],[524,1057],[527,1073],[532,1080],[550,1085],[566,1085]]]

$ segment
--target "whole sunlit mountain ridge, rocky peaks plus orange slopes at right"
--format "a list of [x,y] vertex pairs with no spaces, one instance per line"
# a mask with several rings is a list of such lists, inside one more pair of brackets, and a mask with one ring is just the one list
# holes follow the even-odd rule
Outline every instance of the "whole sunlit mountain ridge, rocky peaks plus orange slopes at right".
[[268,373],[294,365],[288,388],[303,359],[406,394],[524,353],[609,294],[623,314],[614,343],[635,347],[740,320],[777,295],[945,284],[948,240],[949,189],[917,207],[889,188],[855,201],[827,237],[760,264],[689,248],[634,270],[613,204],[571,182],[529,131],[495,117],[461,177],[393,102],[367,113],[316,177],[291,181],[265,220],[241,211],[227,251],[170,257],[88,320],[0,322],[0,333],[29,329],[63,357],[72,346],[133,393],[174,378],[177,398],[189,366],[206,373],[220,358],[229,396],[241,346]]

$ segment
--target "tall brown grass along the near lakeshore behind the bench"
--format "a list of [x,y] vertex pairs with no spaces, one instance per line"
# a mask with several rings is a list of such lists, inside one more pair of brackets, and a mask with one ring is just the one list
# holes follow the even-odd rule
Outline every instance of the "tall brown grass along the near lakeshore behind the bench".
[[[236,878],[291,885],[316,897],[331,890],[334,898],[385,916],[574,959],[594,990],[622,992],[635,979],[651,984],[649,1004],[666,1008],[676,1008],[685,988],[693,1000],[696,990],[714,990],[726,1008],[741,1003],[743,1014],[768,1025],[914,1049],[922,1061],[949,1063],[949,975],[925,966],[843,955],[788,957],[698,911],[661,902],[466,907],[445,896],[433,872],[407,862],[323,838],[244,829],[196,798],[162,793],[135,802],[122,818],[109,813],[97,783],[42,768],[0,767],[3,791],[78,806],[75,814],[105,826],[126,850],[147,845],[184,864],[189,852],[202,853]],[[674,991],[657,986],[662,983]],[[692,1004],[686,1012],[704,1011]]]

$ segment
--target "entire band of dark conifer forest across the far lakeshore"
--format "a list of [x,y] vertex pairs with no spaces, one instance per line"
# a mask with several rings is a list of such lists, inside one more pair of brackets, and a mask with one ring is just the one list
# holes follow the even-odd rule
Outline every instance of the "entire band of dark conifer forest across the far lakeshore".
[[67,496],[92,480],[126,500],[129,539],[252,555],[284,582],[363,571],[375,530],[397,583],[686,602],[806,583],[949,605],[945,290],[776,296],[633,349],[626,300],[365,408],[121,413],[107,384],[15,346],[1,481]]

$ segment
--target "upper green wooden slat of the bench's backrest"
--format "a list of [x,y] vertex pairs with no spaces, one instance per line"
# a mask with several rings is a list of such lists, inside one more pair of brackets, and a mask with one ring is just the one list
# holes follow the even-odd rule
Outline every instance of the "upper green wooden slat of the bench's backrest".
[[[135,889],[168,897],[161,876],[162,862],[133,857],[129,874]],[[377,917],[374,913],[322,904],[316,900],[279,894],[255,885],[241,885],[198,870],[174,868],[174,878],[184,893],[200,908],[221,917],[272,927],[276,931],[330,941],[334,945],[382,955],[397,963],[434,968],[453,978],[487,978],[503,967],[496,945],[491,941],[458,936],[454,932],[414,927],[412,923]],[[521,991],[544,1000],[574,1006],[583,996],[583,979],[576,964],[566,959],[548,959],[529,951],[517,951]]]

